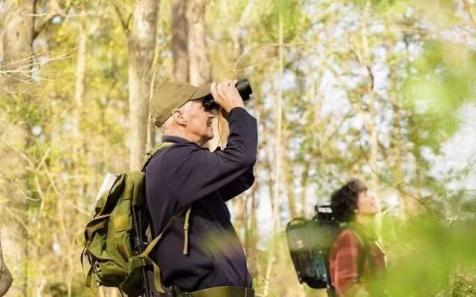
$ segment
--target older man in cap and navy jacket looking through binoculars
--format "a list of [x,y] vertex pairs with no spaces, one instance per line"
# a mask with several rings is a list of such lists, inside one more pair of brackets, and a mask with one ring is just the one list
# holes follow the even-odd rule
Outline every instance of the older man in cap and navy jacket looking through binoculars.
[[[194,87],[165,83],[152,104],[164,143],[147,165],[147,204],[152,235],[162,232],[180,211],[191,209],[166,232],[152,258],[164,285],[177,296],[254,296],[241,243],[225,202],[254,182],[257,123],[244,109],[236,80]],[[213,138],[216,110],[203,98],[212,95],[229,119],[223,150],[204,145]]]

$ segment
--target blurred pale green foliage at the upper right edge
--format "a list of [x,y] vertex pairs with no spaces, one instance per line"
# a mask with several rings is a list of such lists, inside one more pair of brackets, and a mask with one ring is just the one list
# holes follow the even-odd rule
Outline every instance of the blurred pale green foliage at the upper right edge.
[[428,115],[438,130],[452,134],[458,127],[458,108],[476,100],[476,53],[443,41],[429,42],[423,50],[412,63],[415,73],[406,81],[404,93],[416,113]]

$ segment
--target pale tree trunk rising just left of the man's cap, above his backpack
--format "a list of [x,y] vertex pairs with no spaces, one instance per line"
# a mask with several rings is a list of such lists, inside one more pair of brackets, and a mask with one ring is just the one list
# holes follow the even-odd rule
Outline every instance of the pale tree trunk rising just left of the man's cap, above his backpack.
[[130,168],[140,169],[147,144],[149,92],[159,1],[137,0],[129,34]]

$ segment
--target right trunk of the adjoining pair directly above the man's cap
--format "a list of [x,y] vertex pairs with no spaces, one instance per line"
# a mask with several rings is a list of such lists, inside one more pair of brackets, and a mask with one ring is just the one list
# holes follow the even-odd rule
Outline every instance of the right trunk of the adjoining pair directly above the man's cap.
[[211,80],[211,65],[205,33],[206,4],[205,0],[188,1],[189,78],[192,85],[201,85]]

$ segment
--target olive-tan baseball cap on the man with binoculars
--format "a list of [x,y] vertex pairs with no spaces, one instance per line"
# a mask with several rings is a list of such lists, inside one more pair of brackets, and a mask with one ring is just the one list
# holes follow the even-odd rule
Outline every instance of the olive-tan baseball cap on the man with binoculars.
[[210,94],[210,83],[200,87],[185,82],[163,83],[152,97],[150,114],[161,126],[187,101],[203,98]]

